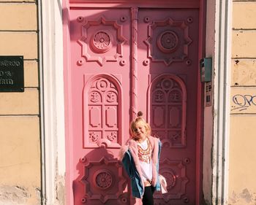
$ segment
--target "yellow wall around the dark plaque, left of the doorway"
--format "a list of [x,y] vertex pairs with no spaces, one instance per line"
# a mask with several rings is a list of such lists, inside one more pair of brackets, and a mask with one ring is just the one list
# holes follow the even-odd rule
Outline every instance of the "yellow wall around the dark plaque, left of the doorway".
[[23,93],[0,93],[0,205],[41,204],[36,0],[0,0],[0,55],[23,55]]

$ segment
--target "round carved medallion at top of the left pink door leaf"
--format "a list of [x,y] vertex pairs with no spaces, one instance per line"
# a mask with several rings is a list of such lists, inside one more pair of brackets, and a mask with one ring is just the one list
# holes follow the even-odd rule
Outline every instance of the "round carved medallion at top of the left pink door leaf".
[[98,31],[91,37],[91,46],[97,53],[105,53],[112,47],[111,37],[106,31]]

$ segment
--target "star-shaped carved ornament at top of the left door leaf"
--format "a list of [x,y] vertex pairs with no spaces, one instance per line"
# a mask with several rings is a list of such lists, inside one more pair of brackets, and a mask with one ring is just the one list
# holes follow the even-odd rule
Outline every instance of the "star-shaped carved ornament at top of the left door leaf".
[[[116,20],[106,20],[104,17],[99,18],[99,20],[84,20],[83,17],[78,17],[77,20],[79,23],[85,21],[82,26],[82,36],[78,43],[82,47],[82,57],[86,58],[86,61],[96,61],[100,66],[103,66],[105,62],[118,61],[118,58],[122,57],[122,45],[127,42],[127,39],[122,35],[121,25]],[[108,29],[90,31],[99,25],[107,26]],[[89,32],[92,32],[91,36],[88,35]],[[113,39],[116,39],[116,42]],[[101,55],[102,53],[104,55]],[[124,63],[124,61],[120,61],[121,65]],[[83,65],[83,59],[78,60],[78,65]]]

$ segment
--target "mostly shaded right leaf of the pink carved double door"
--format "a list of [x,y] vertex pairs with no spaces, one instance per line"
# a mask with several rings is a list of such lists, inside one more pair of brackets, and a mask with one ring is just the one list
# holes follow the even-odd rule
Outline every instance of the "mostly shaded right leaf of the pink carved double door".
[[140,9],[138,24],[138,109],[161,139],[168,184],[155,204],[195,204],[198,11]]

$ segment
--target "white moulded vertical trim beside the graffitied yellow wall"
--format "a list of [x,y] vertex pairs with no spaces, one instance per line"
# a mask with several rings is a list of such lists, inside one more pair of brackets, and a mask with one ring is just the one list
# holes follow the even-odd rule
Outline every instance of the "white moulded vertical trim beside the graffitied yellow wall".
[[216,10],[212,203],[222,205],[228,198],[232,1],[216,1]]

